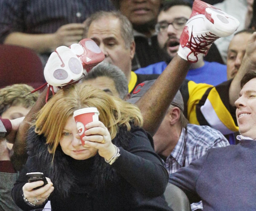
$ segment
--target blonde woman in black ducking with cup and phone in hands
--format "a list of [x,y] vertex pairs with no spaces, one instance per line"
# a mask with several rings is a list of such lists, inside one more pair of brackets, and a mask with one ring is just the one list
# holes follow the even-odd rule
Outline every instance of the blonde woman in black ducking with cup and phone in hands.
[[[163,193],[168,173],[142,128],[139,109],[85,84],[59,90],[37,115],[28,136],[29,158],[12,190],[23,210],[170,210]],[[96,107],[83,147],[73,112]],[[48,184],[27,182],[43,172]]]

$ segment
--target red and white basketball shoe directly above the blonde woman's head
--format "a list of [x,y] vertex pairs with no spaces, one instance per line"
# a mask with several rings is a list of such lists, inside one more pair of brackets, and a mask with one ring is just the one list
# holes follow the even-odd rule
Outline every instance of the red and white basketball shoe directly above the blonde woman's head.
[[74,83],[104,58],[99,46],[91,39],[82,39],[70,47],[60,46],[51,53],[45,65],[45,80],[53,87]]

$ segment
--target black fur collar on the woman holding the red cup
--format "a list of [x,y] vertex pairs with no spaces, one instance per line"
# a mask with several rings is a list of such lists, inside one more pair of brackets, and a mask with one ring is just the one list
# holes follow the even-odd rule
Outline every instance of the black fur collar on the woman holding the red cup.
[[[132,132],[136,130],[144,131],[141,128],[132,125],[131,131],[127,131],[126,127],[120,127],[118,134],[112,140],[116,146],[127,149],[129,140],[133,136]],[[152,138],[150,139],[153,144]],[[67,197],[71,187],[76,187],[75,175],[70,171],[70,157],[66,156],[61,147],[58,146],[52,162],[52,154],[47,150],[46,139],[43,135],[37,135],[34,128],[31,128],[27,140],[28,155],[33,158],[33,166],[29,166],[29,171],[43,172],[47,177],[51,178],[54,184],[54,191],[61,197]],[[102,190],[107,187],[108,183],[118,182],[118,176],[113,168],[110,168],[104,159],[97,153],[94,161],[94,184],[97,184],[96,190]],[[108,175],[106,177],[106,175]]]

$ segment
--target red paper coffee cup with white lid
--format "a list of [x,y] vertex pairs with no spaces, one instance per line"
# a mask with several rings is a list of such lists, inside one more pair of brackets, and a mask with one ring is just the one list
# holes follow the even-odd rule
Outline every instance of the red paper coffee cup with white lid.
[[78,130],[78,134],[80,136],[82,145],[84,147],[88,147],[82,139],[85,136],[84,132],[87,130],[85,128],[85,125],[92,121],[99,121],[99,111],[95,107],[78,109],[74,111],[73,117],[76,121],[76,127]]

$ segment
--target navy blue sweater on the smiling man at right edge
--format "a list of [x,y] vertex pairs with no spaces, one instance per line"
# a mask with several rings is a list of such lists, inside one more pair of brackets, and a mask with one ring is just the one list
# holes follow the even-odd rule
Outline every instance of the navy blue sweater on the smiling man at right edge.
[[170,176],[190,202],[207,210],[256,210],[256,141],[210,149]]

